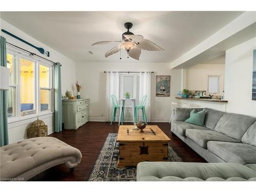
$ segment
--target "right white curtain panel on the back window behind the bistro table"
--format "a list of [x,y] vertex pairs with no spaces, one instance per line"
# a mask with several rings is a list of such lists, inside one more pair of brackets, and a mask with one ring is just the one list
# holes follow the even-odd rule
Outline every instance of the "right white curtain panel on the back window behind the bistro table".
[[140,93],[139,93],[139,102],[141,103],[142,98],[144,95],[147,95],[145,110],[146,110],[146,119],[147,122],[150,122],[151,115],[150,115],[150,95],[151,94],[151,72],[145,71],[140,72]]

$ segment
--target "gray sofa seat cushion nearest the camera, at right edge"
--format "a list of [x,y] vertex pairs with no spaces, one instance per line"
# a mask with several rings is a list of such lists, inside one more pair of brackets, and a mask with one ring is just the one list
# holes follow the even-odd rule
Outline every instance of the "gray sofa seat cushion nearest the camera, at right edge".
[[256,163],[256,146],[250,144],[209,141],[207,148],[228,163]]

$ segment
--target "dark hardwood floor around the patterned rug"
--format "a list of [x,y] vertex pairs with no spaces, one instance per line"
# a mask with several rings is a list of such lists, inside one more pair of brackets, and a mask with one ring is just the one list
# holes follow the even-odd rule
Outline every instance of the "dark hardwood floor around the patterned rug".
[[[176,135],[171,135],[169,123],[150,124],[156,124],[163,130],[171,139],[170,145],[173,146],[176,153],[184,162],[206,162]],[[81,163],[75,167],[74,172],[70,172],[69,168],[63,164],[54,166],[38,174],[31,181],[87,181],[106,136],[109,133],[117,132],[118,123],[110,125],[110,123],[105,122],[88,122],[78,130],[64,130],[60,133],[49,135],[78,148],[82,153]]]

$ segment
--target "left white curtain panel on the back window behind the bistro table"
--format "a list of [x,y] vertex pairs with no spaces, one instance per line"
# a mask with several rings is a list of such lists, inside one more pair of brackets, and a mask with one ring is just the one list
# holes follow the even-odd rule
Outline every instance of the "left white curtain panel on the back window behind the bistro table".
[[111,121],[112,100],[111,95],[119,98],[119,74],[113,71],[106,72],[106,105],[105,105],[105,121]]

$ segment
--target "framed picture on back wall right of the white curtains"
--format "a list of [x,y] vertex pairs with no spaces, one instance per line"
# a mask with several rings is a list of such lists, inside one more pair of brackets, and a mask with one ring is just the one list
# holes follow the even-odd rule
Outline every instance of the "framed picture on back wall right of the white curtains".
[[170,96],[170,76],[169,75],[156,76],[156,96],[157,97]]

